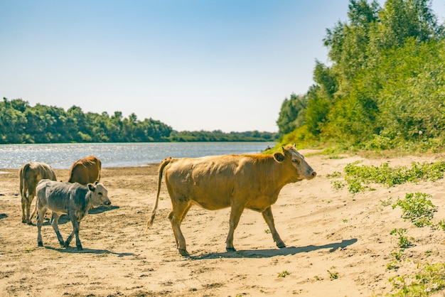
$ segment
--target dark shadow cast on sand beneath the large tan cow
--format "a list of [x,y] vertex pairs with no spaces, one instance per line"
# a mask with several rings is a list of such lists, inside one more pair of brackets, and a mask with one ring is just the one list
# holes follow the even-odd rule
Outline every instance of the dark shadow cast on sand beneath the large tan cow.
[[191,259],[218,259],[218,258],[272,258],[276,256],[289,256],[300,253],[309,253],[318,249],[329,249],[329,252],[335,252],[337,249],[345,249],[351,244],[357,242],[356,238],[343,239],[341,242],[333,242],[323,245],[308,245],[306,247],[285,247],[283,249],[245,249],[237,252],[223,252],[200,254],[199,256],[191,256]]

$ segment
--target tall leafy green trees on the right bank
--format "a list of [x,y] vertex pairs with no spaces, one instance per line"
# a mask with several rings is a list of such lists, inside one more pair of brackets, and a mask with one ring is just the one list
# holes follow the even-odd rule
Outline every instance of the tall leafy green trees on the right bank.
[[326,30],[306,94],[285,98],[282,142],[345,148],[445,148],[445,30],[429,0],[350,0]]

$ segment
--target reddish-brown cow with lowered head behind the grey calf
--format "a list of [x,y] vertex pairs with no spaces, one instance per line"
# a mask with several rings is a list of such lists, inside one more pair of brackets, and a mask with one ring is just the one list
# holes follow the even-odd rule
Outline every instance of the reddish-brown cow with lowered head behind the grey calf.
[[100,180],[102,163],[95,156],[87,156],[73,163],[70,169],[68,183],[87,185]]

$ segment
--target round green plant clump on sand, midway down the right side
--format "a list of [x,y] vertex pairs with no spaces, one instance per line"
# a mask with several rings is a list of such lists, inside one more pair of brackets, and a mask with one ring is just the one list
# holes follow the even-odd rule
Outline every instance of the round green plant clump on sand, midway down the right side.
[[402,217],[411,220],[417,227],[429,226],[431,225],[433,212],[436,211],[436,206],[433,205],[431,200],[427,199],[431,197],[431,195],[426,193],[407,193],[404,200],[397,200],[397,203],[392,205],[392,208],[400,206],[402,208]]

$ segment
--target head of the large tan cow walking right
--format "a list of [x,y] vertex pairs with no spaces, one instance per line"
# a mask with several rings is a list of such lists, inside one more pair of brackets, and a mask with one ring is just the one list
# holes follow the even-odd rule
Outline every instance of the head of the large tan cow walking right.
[[274,159],[279,163],[286,165],[290,169],[291,182],[299,180],[311,180],[315,178],[317,173],[313,171],[311,166],[304,160],[304,156],[296,151],[295,146],[286,146],[282,148],[283,152],[274,153]]

